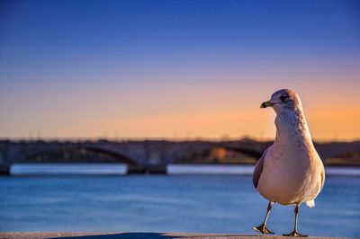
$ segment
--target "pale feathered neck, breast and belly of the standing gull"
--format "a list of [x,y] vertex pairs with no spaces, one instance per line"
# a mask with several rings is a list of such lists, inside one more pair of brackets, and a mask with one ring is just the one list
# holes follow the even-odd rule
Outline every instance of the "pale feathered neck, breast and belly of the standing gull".
[[298,115],[279,115],[275,143],[266,153],[257,190],[281,204],[316,198],[321,189],[321,164],[306,125]]

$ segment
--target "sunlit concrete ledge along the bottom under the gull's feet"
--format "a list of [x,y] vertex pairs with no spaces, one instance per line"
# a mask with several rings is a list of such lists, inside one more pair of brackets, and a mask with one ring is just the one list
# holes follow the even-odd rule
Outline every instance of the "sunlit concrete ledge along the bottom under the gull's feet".
[[[212,239],[241,239],[241,238],[289,238],[280,235],[236,235],[236,234],[192,234],[192,233],[0,233],[0,238],[6,239],[35,239],[35,238],[78,238],[78,239],[169,239],[169,238],[212,238]],[[330,238],[330,237],[307,237]],[[334,237],[332,237],[334,238]]]

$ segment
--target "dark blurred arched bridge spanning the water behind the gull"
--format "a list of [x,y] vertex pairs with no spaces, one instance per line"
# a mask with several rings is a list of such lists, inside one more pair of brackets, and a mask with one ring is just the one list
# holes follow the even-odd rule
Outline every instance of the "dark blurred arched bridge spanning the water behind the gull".
[[[90,162],[117,162],[128,164],[130,173],[162,170],[166,164],[181,163],[184,158],[203,155],[211,148],[220,147],[258,159],[271,141],[255,141],[248,138],[237,141],[44,141],[0,140],[0,168],[6,172],[11,164],[29,162],[64,162],[66,155],[94,155]],[[315,143],[321,158],[360,155],[360,141]],[[61,160],[58,156],[60,154]],[[62,155],[61,155],[62,154]],[[51,158],[54,157],[54,158]],[[73,160],[74,158],[69,158]],[[103,161],[106,159],[105,161]],[[85,162],[89,160],[85,157]]]

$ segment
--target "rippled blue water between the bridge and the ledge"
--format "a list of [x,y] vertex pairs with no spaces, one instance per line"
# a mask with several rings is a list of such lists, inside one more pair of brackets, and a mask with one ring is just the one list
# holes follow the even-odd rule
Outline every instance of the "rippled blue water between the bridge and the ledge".
[[[360,236],[360,177],[328,177],[310,235]],[[267,202],[236,175],[0,177],[0,231],[123,231],[257,234]],[[293,229],[293,207],[275,205],[268,226]]]

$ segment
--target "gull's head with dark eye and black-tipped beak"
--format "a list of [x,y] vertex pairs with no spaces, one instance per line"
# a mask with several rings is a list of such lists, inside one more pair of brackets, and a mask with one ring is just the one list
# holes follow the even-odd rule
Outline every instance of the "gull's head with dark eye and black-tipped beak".
[[263,102],[260,108],[273,107],[276,113],[296,111],[302,108],[300,97],[293,90],[282,89],[271,96],[270,101]]

